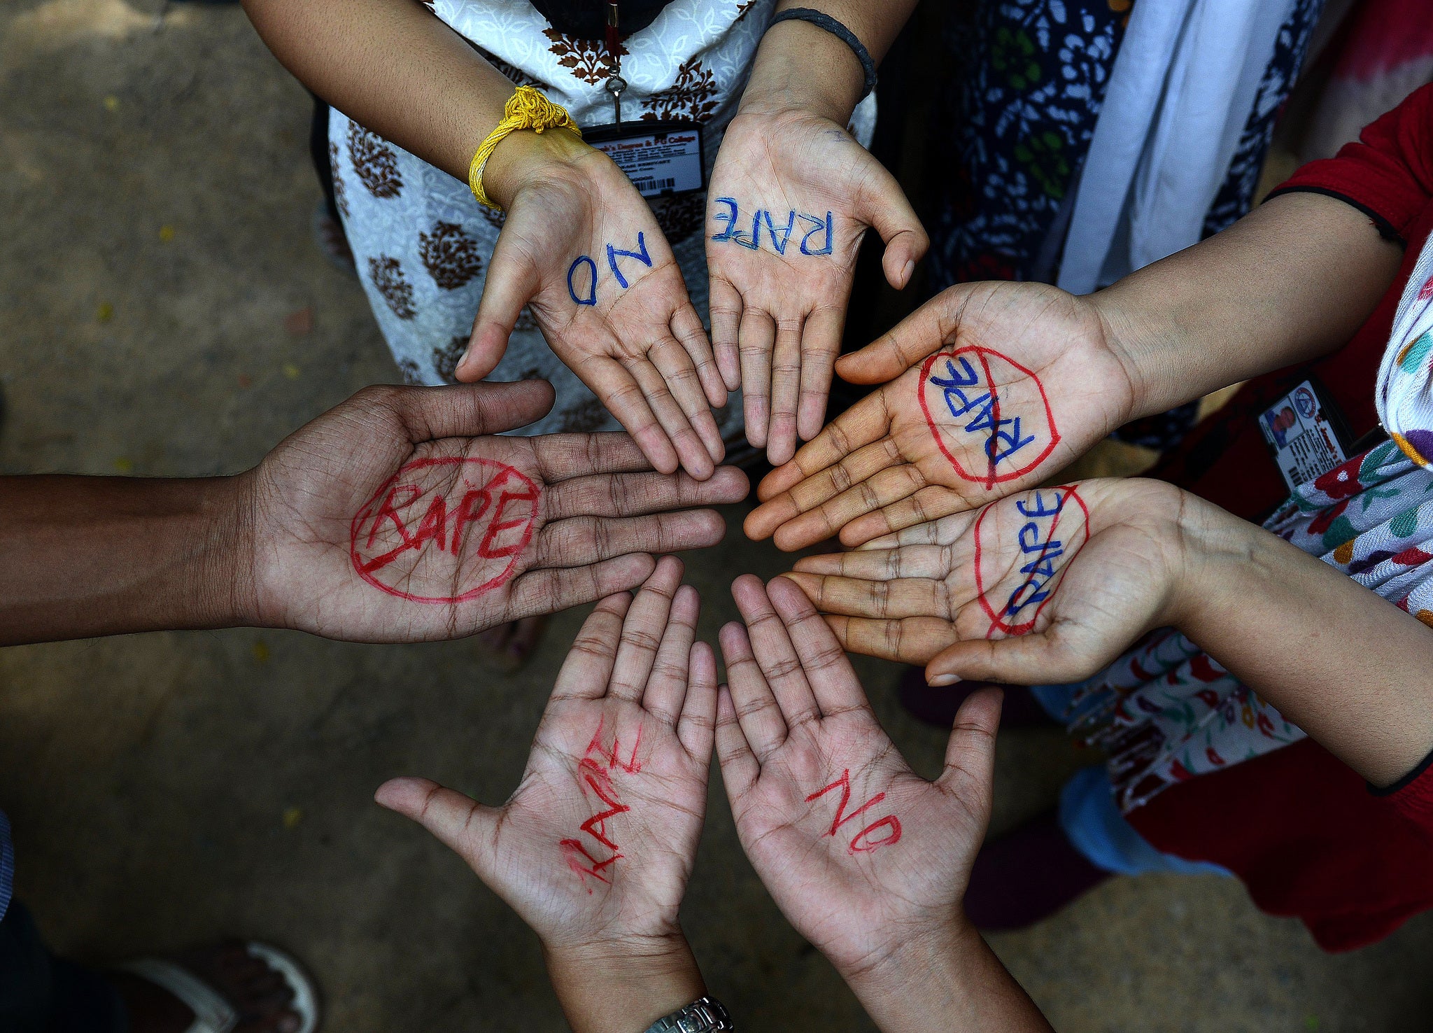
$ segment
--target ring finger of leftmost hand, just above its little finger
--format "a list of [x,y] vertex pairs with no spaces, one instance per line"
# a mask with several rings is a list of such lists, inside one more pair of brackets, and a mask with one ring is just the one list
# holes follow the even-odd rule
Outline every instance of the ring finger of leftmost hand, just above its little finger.
[[675,553],[721,542],[727,524],[712,510],[641,517],[569,517],[537,533],[533,569],[582,567],[628,553]]

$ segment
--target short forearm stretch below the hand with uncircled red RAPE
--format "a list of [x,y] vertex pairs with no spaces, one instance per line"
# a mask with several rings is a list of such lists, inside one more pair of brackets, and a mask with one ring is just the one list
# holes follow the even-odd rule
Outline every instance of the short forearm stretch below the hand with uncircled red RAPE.
[[573,1033],[642,1033],[706,993],[686,937],[596,947],[543,944]]

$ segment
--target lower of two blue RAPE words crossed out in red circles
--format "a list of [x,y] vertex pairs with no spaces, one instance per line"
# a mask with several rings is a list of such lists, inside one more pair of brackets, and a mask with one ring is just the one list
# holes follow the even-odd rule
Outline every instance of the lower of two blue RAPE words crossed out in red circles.
[[[1075,506],[1069,506],[1070,500]],[[1010,543],[989,540],[992,529],[997,526],[995,520],[986,523],[990,510],[992,507],[982,510],[974,526],[976,589],[980,606],[990,618],[986,638],[997,630],[1025,635],[1035,628],[1036,618],[1055,593],[1065,564],[1089,540],[1089,510],[1073,487],[1032,491],[1030,497],[1015,500],[1015,510],[1023,519],[1016,522],[1015,540]],[[1009,564],[1005,557],[1012,550],[1016,559]],[[996,563],[1005,570],[986,570],[987,564]],[[1009,585],[1012,576],[1019,580],[1006,592],[1002,586]],[[1005,597],[995,605],[990,595]]]

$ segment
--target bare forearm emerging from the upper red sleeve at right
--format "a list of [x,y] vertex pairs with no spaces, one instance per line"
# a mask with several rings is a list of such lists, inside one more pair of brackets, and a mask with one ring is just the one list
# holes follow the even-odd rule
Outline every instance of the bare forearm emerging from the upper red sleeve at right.
[[1095,294],[1131,373],[1131,418],[1334,351],[1401,258],[1356,208],[1287,193]]

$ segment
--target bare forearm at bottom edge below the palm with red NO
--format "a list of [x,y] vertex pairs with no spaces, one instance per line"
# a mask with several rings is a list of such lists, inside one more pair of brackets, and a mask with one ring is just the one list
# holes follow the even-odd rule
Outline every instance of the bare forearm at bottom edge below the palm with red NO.
[[848,976],[847,983],[884,1033],[1050,1029],[966,921],[940,937],[906,941],[898,957]]

